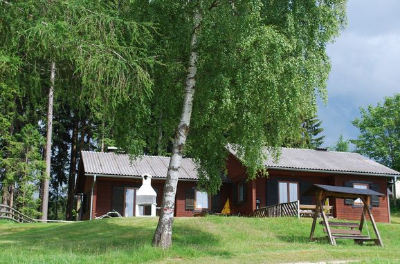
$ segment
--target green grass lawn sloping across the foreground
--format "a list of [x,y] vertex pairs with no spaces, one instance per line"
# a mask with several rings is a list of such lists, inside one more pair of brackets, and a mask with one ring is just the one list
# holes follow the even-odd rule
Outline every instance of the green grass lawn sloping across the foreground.
[[[0,263],[400,263],[400,216],[378,224],[385,247],[309,242],[311,218],[176,218],[173,247],[152,247],[157,218],[0,222]],[[370,232],[372,227],[370,226]],[[316,228],[317,236],[322,227]]]

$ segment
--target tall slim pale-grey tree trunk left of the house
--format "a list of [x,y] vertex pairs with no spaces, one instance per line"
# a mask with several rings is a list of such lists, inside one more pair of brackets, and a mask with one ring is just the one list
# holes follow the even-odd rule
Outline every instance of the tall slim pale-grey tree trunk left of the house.
[[50,184],[51,166],[51,133],[53,129],[53,97],[54,97],[55,62],[51,62],[50,89],[48,90],[47,133],[46,133],[46,175],[43,180],[42,219],[47,220],[48,185]]

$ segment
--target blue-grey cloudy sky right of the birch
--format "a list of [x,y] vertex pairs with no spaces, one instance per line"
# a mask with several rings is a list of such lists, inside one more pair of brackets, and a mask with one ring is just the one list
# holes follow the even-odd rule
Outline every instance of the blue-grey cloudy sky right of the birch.
[[357,138],[351,122],[360,116],[360,106],[376,106],[400,93],[400,1],[348,0],[347,28],[327,53],[328,103],[318,111],[324,147],[334,146],[340,134]]

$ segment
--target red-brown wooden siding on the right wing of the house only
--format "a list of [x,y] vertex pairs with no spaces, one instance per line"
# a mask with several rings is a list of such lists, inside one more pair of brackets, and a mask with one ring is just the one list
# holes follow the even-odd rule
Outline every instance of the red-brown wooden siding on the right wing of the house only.
[[[246,169],[233,156],[229,155],[227,161],[228,177],[234,184],[247,179]],[[312,184],[344,186],[347,181],[371,182],[379,185],[379,192],[385,194],[379,198],[379,207],[372,207],[372,214],[376,222],[389,222],[387,181],[385,177],[368,177],[357,175],[345,175],[338,173],[317,173],[304,171],[284,171],[280,169],[268,169],[268,178],[257,178],[248,182],[248,200],[242,205],[232,205],[233,214],[250,214],[255,209],[255,199],[260,199],[261,206],[275,205],[278,203],[278,181],[299,182],[300,204],[315,205],[316,198],[302,196]],[[231,194],[233,197],[233,193]],[[329,199],[329,205],[334,206],[334,217],[348,220],[359,220],[362,214],[360,207],[345,205],[343,199]]]

